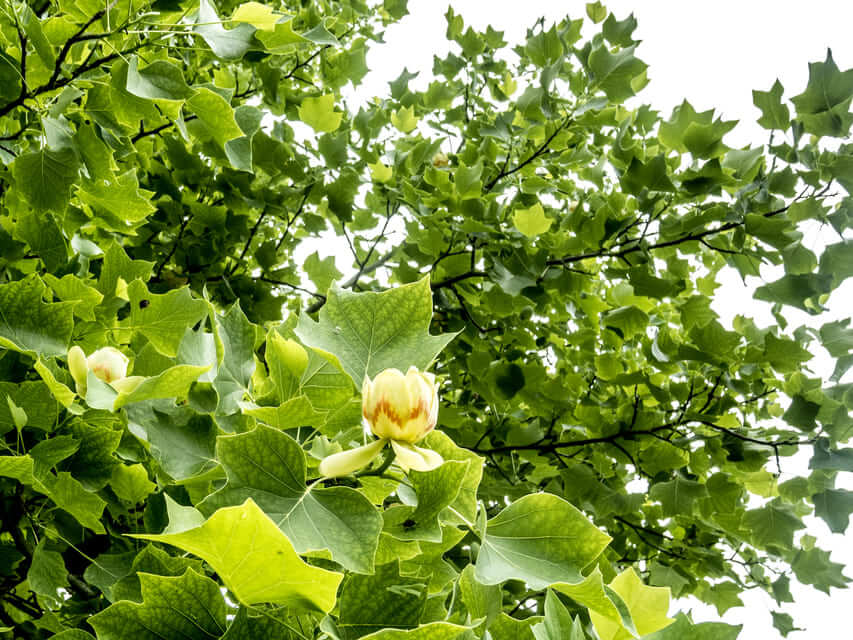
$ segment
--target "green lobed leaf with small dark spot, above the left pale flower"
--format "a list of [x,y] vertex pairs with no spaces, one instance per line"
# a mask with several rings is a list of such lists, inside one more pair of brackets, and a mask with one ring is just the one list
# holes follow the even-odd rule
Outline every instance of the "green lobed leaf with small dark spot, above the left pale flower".
[[[193,298],[187,287],[157,294],[139,280],[127,287],[130,298],[130,322],[127,328],[138,331],[166,356],[175,356],[184,330],[207,315],[207,304]],[[147,304],[142,303],[146,301]],[[142,304],[140,304],[142,303]]]

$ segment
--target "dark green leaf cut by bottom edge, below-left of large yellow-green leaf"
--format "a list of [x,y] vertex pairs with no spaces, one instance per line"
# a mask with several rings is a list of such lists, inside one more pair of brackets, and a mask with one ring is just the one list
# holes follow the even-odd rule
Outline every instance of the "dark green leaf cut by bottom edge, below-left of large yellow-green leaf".
[[89,618],[98,640],[210,640],[225,633],[219,585],[187,569],[178,577],[140,573],[142,602],[123,600]]

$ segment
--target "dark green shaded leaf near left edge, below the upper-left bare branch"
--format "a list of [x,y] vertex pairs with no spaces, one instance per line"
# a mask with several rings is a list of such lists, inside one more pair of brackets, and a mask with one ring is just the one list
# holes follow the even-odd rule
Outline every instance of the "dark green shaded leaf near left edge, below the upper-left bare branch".
[[71,149],[23,154],[12,164],[18,191],[37,211],[64,211],[77,175],[77,156]]

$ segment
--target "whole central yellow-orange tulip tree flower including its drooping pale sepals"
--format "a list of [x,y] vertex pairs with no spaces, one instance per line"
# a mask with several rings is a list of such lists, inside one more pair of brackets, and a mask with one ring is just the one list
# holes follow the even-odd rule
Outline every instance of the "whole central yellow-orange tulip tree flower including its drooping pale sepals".
[[389,442],[404,471],[430,471],[444,462],[435,451],[414,444],[432,431],[438,420],[438,387],[433,374],[409,367],[405,375],[397,369],[385,369],[373,381],[365,378],[361,413],[365,425],[379,439],[327,456],[320,463],[323,476],[343,476],[367,466]]

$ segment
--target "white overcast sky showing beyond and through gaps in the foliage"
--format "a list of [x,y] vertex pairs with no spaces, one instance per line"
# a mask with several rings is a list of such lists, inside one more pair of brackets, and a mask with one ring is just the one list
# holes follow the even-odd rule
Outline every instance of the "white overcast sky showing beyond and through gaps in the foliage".
[[[487,25],[504,31],[504,38],[514,45],[522,42],[528,27],[540,16],[550,23],[566,15],[585,15],[585,2],[571,0],[452,0],[466,27],[484,30]],[[617,19],[634,14],[638,28],[634,37],[642,40],[637,56],[648,65],[649,85],[637,103],[648,103],[669,115],[672,108],[687,98],[697,111],[717,109],[727,120],[740,124],[726,137],[730,146],[756,146],[765,143],[768,133],[755,124],[760,112],[753,106],[752,90],[766,91],[778,78],[785,87],[785,97],[800,93],[808,80],[808,63],[822,61],[826,49],[832,49],[839,68],[853,67],[853,3],[841,0],[717,0],[698,2],[685,0],[645,0],[629,2],[611,0],[605,3]],[[386,44],[375,45],[368,55],[370,74],[351,98],[369,99],[388,93],[387,83],[407,67],[420,72],[412,84],[424,87],[431,79],[434,55],[450,50],[445,39],[444,13],[448,2],[409,0],[410,15],[391,26]],[[590,30],[584,31],[589,35]],[[826,242],[837,242],[828,229],[817,229],[806,236],[812,249]],[[331,246],[329,253],[337,253]],[[321,253],[324,253],[321,251]],[[346,269],[348,252],[338,254],[339,268]],[[765,277],[775,279],[771,272]],[[740,278],[729,274],[718,290],[715,308],[730,322],[735,313],[754,317],[761,326],[773,323],[769,305],[752,300],[752,289],[758,279],[745,286]],[[853,282],[848,280],[829,302],[832,319],[850,315],[849,300]],[[800,312],[790,314],[793,326],[807,321]],[[819,324],[827,322],[821,317]],[[828,376],[826,359],[813,362],[815,372]],[[829,369],[831,371],[831,368]],[[780,482],[794,473],[807,473],[808,455],[784,461]],[[839,474],[837,486],[853,489],[853,474]],[[832,534],[822,520],[809,519],[809,533],[818,537],[822,548],[833,551],[832,559],[851,567],[853,576],[853,535]],[[851,529],[853,531],[853,529]],[[792,579],[795,605],[787,605],[795,615],[795,623],[806,627],[788,637],[793,640],[838,637],[845,635],[839,625],[853,611],[853,590],[833,590],[832,596],[811,587],[800,587]],[[745,607],[730,609],[723,621],[743,624],[740,638],[775,640],[782,636],[772,627],[770,611],[778,610],[765,594],[751,591],[743,594]],[[675,603],[678,609],[692,609],[694,620],[719,620],[713,607],[695,599]],[[849,635],[850,632],[847,632]],[[686,639],[689,640],[689,639]]]

